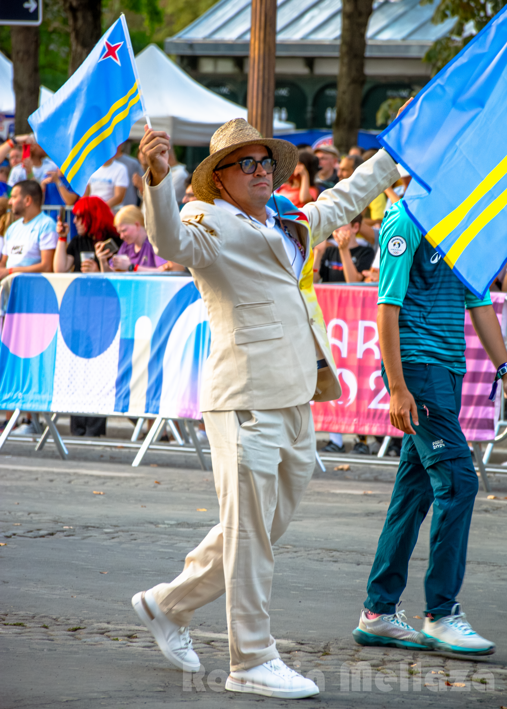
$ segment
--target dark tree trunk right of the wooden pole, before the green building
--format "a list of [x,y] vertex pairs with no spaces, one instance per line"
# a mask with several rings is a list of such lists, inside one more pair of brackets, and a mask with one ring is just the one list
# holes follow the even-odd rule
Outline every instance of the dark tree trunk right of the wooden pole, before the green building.
[[344,154],[357,144],[361,125],[361,99],[364,75],[366,26],[372,0],[342,1],[342,40],[339,52],[337,117],[334,121],[334,145]]

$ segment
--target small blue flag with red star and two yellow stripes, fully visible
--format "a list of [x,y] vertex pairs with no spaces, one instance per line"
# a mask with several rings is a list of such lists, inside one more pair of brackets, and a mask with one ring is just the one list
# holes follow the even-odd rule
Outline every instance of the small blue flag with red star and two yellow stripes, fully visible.
[[146,115],[125,16],[62,88],[28,118],[36,140],[77,194]]

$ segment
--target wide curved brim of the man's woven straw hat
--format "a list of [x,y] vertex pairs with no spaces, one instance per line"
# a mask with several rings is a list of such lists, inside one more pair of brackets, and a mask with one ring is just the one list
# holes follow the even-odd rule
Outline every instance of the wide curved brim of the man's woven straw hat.
[[276,168],[275,172],[273,172],[273,191],[283,185],[284,182],[287,182],[290,175],[293,174],[296,164],[298,164],[298,148],[293,143],[289,143],[288,140],[280,140],[280,138],[241,140],[239,143],[222,147],[222,150],[217,150],[217,152],[209,155],[197,165],[192,175],[192,191],[197,199],[212,204],[214,199],[219,199],[222,196],[213,182],[213,171],[224,157],[245,145],[264,145],[270,148],[273,158],[276,160]]

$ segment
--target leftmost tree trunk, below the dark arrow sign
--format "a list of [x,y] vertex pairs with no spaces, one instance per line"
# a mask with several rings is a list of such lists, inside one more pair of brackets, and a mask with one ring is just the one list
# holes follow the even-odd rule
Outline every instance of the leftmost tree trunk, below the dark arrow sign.
[[39,104],[39,28],[11,26],[14,95],[16,119],[14,131],[31,133],[28,116]]

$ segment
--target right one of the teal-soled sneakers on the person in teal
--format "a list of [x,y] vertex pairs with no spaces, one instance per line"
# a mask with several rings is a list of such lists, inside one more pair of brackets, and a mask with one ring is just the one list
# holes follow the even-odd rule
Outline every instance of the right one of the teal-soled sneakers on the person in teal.
[[446,652],[491,655],[496,649],[494,642],[481,637],[471,627],[467,616],[462,613],[460,603],[454,603],[451,615],[446,615],[445,618],[425,618],[423,632],[435,641],[435,649]]

